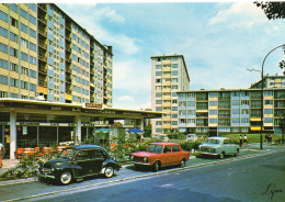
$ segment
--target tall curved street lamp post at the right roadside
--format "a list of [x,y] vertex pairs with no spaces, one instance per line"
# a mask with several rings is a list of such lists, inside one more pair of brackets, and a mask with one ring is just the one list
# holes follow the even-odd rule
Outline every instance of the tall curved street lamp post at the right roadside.
[[263,61],[262,61],[262,66],[261,66],[261,71],[260,70],[256,70],[256,69],[248,69],[250,71],[252,70],[255,70],[255,71],[260,71],[261,72],[261,128],[260,128],[260,149],[262,149],[262,134],[263,134],[263,116],[264,116],[264,113],[263,113],[263,105],[264,105],[264,76],[263,76],[263,66],[264,66],[264,63],[267,58],[267,56],[275,49],[280,48],[280,47],[285,47],[285,44],[282,44],[280,46],[276,46],[274,47],[273,49],[271,49],[267,55],[264,57]]

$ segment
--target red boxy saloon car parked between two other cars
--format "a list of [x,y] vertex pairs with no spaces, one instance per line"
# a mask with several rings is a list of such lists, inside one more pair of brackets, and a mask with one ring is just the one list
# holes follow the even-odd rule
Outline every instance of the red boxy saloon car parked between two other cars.
[[136,167],[148,166],[153,171],[171,165],[184,167],[189,157],[190,152],[182,150],[176,143],[150,143],[147,152],[130,154],[130,160]]

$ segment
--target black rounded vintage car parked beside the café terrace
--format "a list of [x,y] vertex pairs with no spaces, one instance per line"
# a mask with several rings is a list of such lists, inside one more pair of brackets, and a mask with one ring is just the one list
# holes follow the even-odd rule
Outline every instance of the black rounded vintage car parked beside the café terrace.
[[70,146],[61,150],[57,158],[39,165],[38,176],[52,178],[62,184],[73,179],[102,173],[106,178],[119,170],[119,166],[107,152],[98,145]]

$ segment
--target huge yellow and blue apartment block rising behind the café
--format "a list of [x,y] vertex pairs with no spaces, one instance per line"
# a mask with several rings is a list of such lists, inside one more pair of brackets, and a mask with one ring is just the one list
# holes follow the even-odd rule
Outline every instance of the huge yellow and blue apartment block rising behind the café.
[[112,46],[56,4],[0,4],[0,98],[112,106]]

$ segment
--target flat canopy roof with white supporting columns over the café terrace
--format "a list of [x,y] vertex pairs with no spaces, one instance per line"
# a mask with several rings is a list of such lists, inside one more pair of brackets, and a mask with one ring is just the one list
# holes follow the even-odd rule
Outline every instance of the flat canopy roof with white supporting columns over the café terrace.
[[100,104],[0,99],[0,125],[2,126],[2,139],[0,142],[4,143],[4,131],[9,131],[10,158],[13,159],[16,149],[18,126],[68,126],[75,128],[75,135],[81,141],[82,126],[115,127],[115,120],[135,120],[142,130],[144,119],[158,119],[162,115],[160,112],[100,106]]

